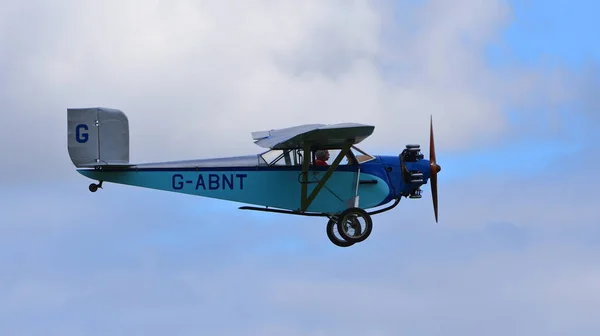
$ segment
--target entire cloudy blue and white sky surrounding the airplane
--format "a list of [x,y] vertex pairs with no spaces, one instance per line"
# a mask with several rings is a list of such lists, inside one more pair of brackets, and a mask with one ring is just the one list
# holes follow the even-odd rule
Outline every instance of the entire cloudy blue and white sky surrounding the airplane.
[[[597,335],[599,7],[0,0],[0,334]],[[397,155],[432,115],[440,221],[428,185],[351,248],[316,218],[92,194],[66,109],[94,106],[127,113],[133,162],[338,122]]]

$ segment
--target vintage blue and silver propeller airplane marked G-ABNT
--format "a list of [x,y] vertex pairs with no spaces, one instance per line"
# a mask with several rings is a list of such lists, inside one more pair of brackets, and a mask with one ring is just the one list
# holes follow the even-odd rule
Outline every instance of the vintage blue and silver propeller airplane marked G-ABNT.
[[[129,162],[129,120],[121,110],[67,108],[67,127],[77,172],[98,181],[89,185],[91,192],[110,182],[247,204],[241,210],[326,217],[329,240],[349,247],[370,236],[372,216],[395,208],[403,197],[422,198],[421,186],[429,182],[438,222],[441,167],[433,117],[428,160],[414,144],[398,156],[366,153],[356,145],[375,127],[358,123],[251,132],[263,148],[258,154],[149,163]],[[337,153],[331,165],[315,165],[319,150]]]

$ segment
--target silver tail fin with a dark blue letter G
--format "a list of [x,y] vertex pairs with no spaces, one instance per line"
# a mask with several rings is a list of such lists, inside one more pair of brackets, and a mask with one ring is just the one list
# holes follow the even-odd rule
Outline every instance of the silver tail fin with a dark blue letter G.
[[67,109],[68,149],[77,168],[129,166],[129,121],[104,107]]

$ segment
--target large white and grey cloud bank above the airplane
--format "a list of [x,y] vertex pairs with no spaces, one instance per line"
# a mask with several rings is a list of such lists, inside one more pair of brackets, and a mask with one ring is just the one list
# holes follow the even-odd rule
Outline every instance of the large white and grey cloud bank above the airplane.
[[2,151],[13,174],[58,174],[65,110],[85,106],[128,114],[136,162],[255,153],[249,132],[309,122],[374,124],[364,146],[397,152],[427,143],[429,114],[440,150],[492,144],[512,103],[564,87],[487,64],[509,19],[503,1],[12,4]]

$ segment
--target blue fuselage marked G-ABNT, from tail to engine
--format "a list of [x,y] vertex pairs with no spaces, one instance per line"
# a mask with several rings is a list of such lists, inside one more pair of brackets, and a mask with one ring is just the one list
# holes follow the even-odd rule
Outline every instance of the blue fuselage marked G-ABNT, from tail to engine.
[[[429,177],[428,162],[406,163]],[[421,184],[404,182],[398,156],[375,156],[355,165],[340,165],[307,209],[339,213],[359,196],[359,206],[370,209],[407,195]],[[132,167],[79,169],[82,175],[105,182],[196,196],[298,210],[301,205],[301,165],[267,165],[260,155],[137,164]],[[311,166],[308,193],[327,167]],[[426,180],[425,180],[426,181]]]

